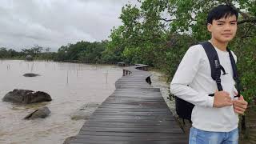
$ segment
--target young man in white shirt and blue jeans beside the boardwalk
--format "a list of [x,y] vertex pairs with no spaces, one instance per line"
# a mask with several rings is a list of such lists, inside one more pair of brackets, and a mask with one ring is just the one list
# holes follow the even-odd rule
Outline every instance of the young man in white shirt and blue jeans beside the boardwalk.
[[[207,18],[207,29],[211,33],[209,42],[227,73],[221,75],[222,91],[218,91],[211,78],[210,62],[202,45],[187,50],[170,84],[172,94],[195,105],[191,115],[190,144],[238,143],[238,114],[244,113],[247,102],[242,96],[234,98],[237,90],[226,50],[236,34],[237,20],[238,11],[226,5],[214,7]],[[237,57],[232,54],[236,61]]]

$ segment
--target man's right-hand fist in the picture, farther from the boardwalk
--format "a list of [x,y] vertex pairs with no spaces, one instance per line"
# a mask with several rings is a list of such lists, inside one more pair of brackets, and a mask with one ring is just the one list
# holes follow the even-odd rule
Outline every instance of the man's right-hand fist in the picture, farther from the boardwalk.
[[233,100],[233,107],[234,107],[234,112],[238,114],[243,114],[246,111],[248,102],[246,102],[243,99],[243,96],[240,95],[240,97],[236,100]]

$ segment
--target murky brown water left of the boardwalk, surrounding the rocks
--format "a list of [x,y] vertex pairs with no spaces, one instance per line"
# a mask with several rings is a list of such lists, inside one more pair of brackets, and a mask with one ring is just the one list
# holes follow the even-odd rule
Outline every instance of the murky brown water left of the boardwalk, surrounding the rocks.
[[[26,73],[40,76],[23,77]],[[118,66],[0,60],[0,143],[62,143],[78,134],[85,122],[71,120],[70,115],[86,103],[102,103],[121,77]],[[44,91],[53,100],[30,105],[2,102],[4,95],[14,89]],[[50,117],[22,119],[40,106],[49,107]]]

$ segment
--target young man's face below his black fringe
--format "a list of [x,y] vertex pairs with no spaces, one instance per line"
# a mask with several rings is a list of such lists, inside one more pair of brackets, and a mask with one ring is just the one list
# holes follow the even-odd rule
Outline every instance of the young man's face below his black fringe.
[[237,18],[232,15],[213,20],[212,24],[208,23],[207,28],[211,32],[212,38],[218,42],[230,42],[237,32]]

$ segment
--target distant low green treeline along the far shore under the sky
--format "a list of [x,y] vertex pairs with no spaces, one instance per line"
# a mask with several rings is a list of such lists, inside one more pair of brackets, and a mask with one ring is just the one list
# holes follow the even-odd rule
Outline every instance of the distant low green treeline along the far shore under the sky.
[[6,59],[25,59],[30,55],[33,59],[38,60],[54,60],[60,62],[111,62],[116,63],[121,61],[121,58],[110,56],[106,53],[108,42],[77,42],[61,46],[58,52],[50,52],[50,48],[42,46],[32,46],[28,49],[16,51],[6,47],[0,48],[0,58]]

